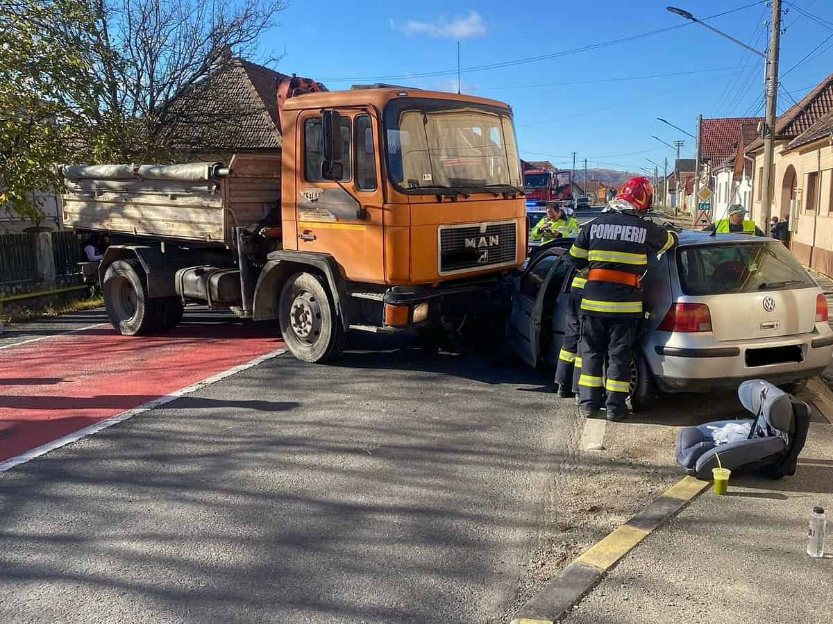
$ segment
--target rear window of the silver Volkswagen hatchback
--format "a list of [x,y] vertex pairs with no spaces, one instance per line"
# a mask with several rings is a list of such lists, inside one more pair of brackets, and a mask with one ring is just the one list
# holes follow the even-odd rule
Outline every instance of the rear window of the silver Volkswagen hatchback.
[[724,242],[679,247],[680,285],[686,295],[787,290],[816,286],[780,242]]

